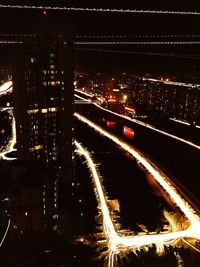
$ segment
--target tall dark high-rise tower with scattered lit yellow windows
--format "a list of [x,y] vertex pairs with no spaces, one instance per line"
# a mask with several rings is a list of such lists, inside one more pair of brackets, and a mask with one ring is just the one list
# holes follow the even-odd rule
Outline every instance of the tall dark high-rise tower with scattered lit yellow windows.
[[62,194],[73,176],[72,46],[63,36],[26,39],[13,81],[17,157],[40,161],[50,170],[56,209],[59,184]]

